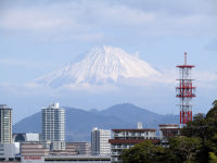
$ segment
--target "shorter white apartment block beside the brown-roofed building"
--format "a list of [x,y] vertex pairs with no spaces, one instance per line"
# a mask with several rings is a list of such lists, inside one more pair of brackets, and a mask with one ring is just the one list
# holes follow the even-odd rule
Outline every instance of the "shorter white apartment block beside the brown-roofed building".
[[93,128],[91,131],[91,154],[92,155],[110,155],[111,130]]

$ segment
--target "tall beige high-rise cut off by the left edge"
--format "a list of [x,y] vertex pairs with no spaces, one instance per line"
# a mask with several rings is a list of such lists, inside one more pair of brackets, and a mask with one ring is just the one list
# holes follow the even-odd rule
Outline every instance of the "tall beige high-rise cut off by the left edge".
[[12,143],[12,109],[0,104],[0,143]]

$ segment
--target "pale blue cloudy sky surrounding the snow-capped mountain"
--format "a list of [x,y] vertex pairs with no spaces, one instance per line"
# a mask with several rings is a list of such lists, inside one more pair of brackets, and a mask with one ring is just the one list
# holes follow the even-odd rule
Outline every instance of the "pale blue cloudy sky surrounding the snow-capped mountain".
[[113,92],[106,92],[101,103],[92,92],[88,95],[93,98],[84,90],[51,95],[49,88],[39,90],[30,85],[100,45],[139,53],[159,71],[177,71],[187,51],[189,62],[196,65],[197,112],[206,112],[216,99],[216,0],[1,0],[0,98],[14,109],[14,122],[53,100],[86,109],[132,102],[158,113],[176,113],[174,84],[138,88],[133,96],[126,96],[125,90],[115,100]]

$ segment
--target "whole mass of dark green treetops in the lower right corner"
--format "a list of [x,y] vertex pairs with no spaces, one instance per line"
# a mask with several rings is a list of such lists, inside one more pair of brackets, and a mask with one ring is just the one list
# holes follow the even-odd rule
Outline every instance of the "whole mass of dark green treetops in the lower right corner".
[[217,163],[217,100],[206,115],[196,114],[180,136],[170,138],[168,147],[145,140],[120,158],[124,163]]

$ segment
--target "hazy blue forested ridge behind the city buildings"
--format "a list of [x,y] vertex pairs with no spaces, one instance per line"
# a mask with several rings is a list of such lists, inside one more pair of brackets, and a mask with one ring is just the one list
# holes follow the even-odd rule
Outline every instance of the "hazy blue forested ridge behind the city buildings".
[[[178,115],[161,115],[130,103],[113,105],[103,111],[85,111],[69,106],[66,110],[66,140],[89,141],[93,127],[136,128],[142,122],[145,128],[157,128],[158,124],[178,124]],[[41,113],[23,118],[13,126],[13,133],[40,133]]]

